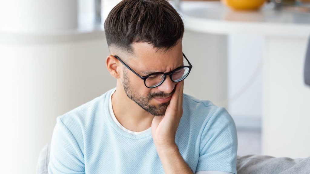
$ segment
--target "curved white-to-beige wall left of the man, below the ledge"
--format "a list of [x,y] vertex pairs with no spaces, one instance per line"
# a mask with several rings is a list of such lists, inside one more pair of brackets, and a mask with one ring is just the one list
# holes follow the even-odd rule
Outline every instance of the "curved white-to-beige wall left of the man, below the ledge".
[[2,173],[33,174],[56,117],[115,86],[104,38],[0,44]]

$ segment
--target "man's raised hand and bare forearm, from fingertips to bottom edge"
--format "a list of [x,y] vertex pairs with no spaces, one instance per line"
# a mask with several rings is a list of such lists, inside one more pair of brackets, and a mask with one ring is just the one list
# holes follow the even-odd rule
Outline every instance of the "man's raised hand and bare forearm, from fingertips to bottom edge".
[[166,174],[193,174],[175,144],[175,134],[183,114],[184,81],[176,84],[175,93],[164,116],[152,121],[153,141]]

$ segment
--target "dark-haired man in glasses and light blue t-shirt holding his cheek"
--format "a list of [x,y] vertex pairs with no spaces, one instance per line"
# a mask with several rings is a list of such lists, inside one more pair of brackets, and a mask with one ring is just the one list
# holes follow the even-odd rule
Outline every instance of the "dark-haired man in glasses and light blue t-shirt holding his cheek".
[[49,173],[236,174],[231,116],[183,94],[192,65],[175,9],[123,0],[104,29],[116,88],[57,117]]

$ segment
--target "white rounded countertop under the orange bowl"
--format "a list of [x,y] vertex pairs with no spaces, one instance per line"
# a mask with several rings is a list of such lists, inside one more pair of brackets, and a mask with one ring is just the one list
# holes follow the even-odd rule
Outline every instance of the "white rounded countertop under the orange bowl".
[[185,28],[214,34],[252,33],[271,36],[308,37],[310,13],[275,10],[270,4],[259,11],[234,11],[220,2],[182,2]]

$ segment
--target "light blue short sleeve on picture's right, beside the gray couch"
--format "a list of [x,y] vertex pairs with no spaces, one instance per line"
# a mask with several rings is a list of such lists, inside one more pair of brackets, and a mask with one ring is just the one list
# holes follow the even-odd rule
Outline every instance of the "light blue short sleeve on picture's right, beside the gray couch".
[[223,171],[237,174],[237,130],[225,108],[208,115],[201,134],[198,171]]

